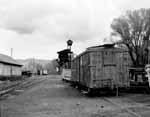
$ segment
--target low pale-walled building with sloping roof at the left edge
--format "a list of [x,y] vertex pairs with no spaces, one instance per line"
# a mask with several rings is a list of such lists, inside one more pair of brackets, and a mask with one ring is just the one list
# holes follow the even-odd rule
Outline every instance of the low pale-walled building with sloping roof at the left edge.
[[0,54],[0,77],[21,76],[21,67],[12,57]]

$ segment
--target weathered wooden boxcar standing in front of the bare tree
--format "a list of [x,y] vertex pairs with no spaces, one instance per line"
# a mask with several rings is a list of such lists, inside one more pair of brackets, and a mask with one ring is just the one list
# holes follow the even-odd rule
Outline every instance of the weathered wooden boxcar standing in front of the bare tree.
[[128,87],[129,65],[127,50],[114,45],[90,47],[72,60],[71,81],[88,90]]

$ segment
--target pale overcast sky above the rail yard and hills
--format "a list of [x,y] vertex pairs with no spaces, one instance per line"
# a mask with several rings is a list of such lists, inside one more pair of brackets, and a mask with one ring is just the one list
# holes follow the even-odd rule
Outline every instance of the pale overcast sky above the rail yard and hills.
[[79,54],[109,37],[113,18],[149,7],[149,0],[0,0],[0,53],[53,59],[70,38]]

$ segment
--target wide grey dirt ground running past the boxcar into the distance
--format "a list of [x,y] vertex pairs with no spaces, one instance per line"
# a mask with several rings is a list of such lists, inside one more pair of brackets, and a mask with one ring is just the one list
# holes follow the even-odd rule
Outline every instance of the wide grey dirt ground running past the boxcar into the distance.
[[149,117],[150,96],[87,97],[60,76],[31,78],[0,100],[1,117]]

